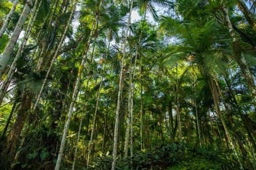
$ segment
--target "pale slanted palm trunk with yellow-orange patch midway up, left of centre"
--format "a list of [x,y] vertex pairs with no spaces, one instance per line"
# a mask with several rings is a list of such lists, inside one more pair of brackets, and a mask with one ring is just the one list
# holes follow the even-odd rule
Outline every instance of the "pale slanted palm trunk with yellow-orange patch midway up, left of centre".
[[76,101],[76,96],[77,96],[77,92],[78,92],[78,85],[80,83],[81,74],[82,74],[82,71],[83,71],[86,59],[87,59],[87,52],[88,52],[88,49],[90,47],[90,43],[91,43],[91,39],[92,39],[92,36],[93,36],[93,32],[94,32],[95,25],[96,25],[98,19],[99,19],[99,16],[97,16],[96,21],[92,25],[91,33],[90,33],[90,35],[88,37],[88,41],[87,41],[87,44],[86,44],[86,47],[85,47],[85,54],[82,57],[82,62],[80,64],[79,71],[78,71],[78,74],[77,74],[76,83],[75,83],[75,86],[74,86],[70,107],[68,109],[67,121],[65,123],[65,128],[63,129],[61,146],[60,146],[60,150],[58,152],[58,158],[57,158],[55,170],[60,169],[60,166],[61,166],[62,154],[63,154],[64,147],[65,147],[68,126],[70,124],[71,116],[72,116],[72,113],[73,113],[73,106],[74,106],[75,101]]

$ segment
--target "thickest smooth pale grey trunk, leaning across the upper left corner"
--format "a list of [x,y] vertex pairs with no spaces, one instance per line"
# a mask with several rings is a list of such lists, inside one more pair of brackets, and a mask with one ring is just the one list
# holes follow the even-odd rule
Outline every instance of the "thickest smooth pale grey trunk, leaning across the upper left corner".
[[22,27],[24,23],[27,21],[28,14],[30,12],[31,7],[33,6],[32,0],[27,0],[26,5],[22,11],[21,17],[19,17],[18,23],[16,24],[16,27],[14,28],[14,31],[12,33],[12,37],[9,39],[9,42],[4,49],[4,52],[2,56],[0,57],[0,79],[2,79],[2,74],[4,72],[4,69],[6,68],[9,58],[11,57],[11,53],[13,51],[13,48],[18,40],[19,34],[22,31]]

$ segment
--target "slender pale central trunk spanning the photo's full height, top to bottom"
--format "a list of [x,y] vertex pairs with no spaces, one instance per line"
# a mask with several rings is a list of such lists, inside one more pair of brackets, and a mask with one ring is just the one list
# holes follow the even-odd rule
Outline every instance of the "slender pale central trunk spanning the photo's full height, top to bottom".
[[119,74],[119,91],[117,94],[117,106],[116,106],[116,120],[115,120],[115,132],[114,132],[114,144],[113,144],[113,160],[112,160],[112,166],[111,170],[115,170],[116,166],[116,154],[117,154],[117,135],[118,135],[118,124],[119,124],[119,111],[120,111],[120,104],[121,104],[121,93],[122,93],[122,74],[123,74],[123,67],[124,67],[124,58],[126,53],[126,44],[127,44],[127,36],[129,31],[129,26],[131,23],[131,11],[132,11],[132,4],[133,0],[131,0],[131,6],[130,6],[130,12],[129,12],[129,19],[126,26],[126,32],[125,32],[125,41],[124,41],[124,49],[123,49],[123,56],[121,59],[121,68],[120,68],[120,74]]

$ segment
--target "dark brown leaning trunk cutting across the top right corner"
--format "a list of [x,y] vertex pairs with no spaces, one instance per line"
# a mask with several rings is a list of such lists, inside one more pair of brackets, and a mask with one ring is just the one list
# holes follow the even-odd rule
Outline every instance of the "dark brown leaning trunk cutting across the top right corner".
[[250,12],[243,0],[237,0],[237,2],[238,8],[244,14],[245,19],[248,21],[253,30],[256,31],[256,19],[254,18],[253,14]]

